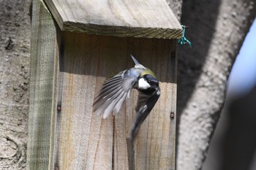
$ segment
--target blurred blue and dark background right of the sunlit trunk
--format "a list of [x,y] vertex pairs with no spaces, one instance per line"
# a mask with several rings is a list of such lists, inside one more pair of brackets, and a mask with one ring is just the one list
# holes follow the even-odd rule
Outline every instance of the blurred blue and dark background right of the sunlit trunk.
[[203,170],[256,169],[256,19],[227,83],[225,108]]

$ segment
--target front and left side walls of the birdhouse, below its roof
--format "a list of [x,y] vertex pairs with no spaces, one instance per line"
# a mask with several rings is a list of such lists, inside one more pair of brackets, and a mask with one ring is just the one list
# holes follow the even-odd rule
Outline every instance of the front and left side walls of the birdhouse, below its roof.
[[155,72],[162,92],[135,142],[135,168],[175,169],[176,40],[60,31],[37,0],[32,31],[27,169],[128,169],[138,92],[105,120],[92,104],[106,79],[134,66],[130,54]]

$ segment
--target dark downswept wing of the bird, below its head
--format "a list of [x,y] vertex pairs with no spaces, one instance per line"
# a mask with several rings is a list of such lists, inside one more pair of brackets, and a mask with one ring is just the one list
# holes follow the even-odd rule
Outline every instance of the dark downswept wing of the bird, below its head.
[[157,88],[151,94],[143,93],[141,91],[139,92],[138,103],[135,109],[136,117],[132,124],[132,128],[129,131],[130,139],[135,139],[135,136],[138,134],[140,129],[140,125],[143,123],[148,114],[151,112],[151,109],[153,109],[154,105],[157,103],[160,93],[160,88]]

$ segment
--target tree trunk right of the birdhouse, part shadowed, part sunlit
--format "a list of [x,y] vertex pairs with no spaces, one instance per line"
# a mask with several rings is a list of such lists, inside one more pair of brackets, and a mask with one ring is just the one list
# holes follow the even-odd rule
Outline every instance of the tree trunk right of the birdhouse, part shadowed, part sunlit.
[[238,50],[256,15],[255,0],[184,0],[181,23],[192,48],[179,47],[178,170],[201,169],[225,101]]

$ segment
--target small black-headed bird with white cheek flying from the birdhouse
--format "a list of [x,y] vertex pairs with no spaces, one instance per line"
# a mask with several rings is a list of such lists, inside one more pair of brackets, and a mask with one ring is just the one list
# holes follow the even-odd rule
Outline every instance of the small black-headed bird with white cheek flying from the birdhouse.
[[136,116],[129,131],[129,139],[135,139],[140,125],[153,109],[160,96],[159,81],[154,73],[141,65],[132,55],[135,67],[119,72],[102,85],[99,95],[94,99],[94,112],[103,118],[111,112],[116,115],[126,98],[129,98],[132,88],[139,91],[135,108]]

